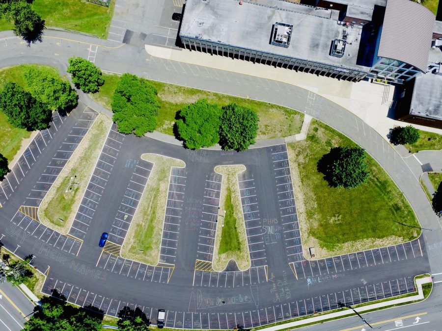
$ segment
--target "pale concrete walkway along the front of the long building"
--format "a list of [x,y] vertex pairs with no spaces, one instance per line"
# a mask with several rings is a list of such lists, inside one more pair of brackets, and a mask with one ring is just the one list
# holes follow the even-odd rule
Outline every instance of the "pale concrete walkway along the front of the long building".
[[[387,117],[388,109],[393,102],[394,86],[392,85],[374,84],[367,81],[353,83],[184,49],[178,51],[145,45],[145,50],[151,56],[166,60],[272,79],[302,87],[348,109],[373,127],[387,141],[390,128],[404,126],[404,122]],[[413,126],[442,134],[442,129]]]

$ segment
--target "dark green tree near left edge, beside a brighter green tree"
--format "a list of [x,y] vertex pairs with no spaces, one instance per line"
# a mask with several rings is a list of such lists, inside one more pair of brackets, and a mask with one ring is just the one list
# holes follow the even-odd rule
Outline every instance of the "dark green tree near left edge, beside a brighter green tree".
[[14,127],[41,130],[48,127],[52,112],[21,86],[8,82],[0,92],[0,109]]

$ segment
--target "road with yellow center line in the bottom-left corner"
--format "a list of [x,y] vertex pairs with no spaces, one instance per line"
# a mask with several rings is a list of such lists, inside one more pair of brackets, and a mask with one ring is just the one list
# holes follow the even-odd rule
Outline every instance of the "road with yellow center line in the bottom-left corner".
[[0,330],[22,330],[33,311],[34,305],[17,287],[0,284]]

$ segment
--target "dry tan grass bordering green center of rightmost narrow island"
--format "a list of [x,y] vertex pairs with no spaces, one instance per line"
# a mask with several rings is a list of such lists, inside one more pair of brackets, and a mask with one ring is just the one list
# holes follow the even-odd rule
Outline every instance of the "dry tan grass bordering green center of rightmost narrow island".
[[221,197],[220,197],[220,210],[225,210],[225,198],[227,194],[227,187],[230,188],[233,203],[233,214],[236,218],[236,229],[238,231],[240,250],[229,251],[223,254],[219,254],[222,234],[222,222],[217,223],[217,231],[215,236],[215,245],[213,252],[213,269],[216,271],[222,271],[227,266],[227,263],[233,259],[236,261],[240,270],[247,270],[250,268],[250,255],[249,245],[247,242],[246,226],[243,217],[243,209],[241,205],[240,193],[238,188],[237,175],[246,171],[244,165],[227,165],[215,167],[215,172],[222,175],[221,184]]

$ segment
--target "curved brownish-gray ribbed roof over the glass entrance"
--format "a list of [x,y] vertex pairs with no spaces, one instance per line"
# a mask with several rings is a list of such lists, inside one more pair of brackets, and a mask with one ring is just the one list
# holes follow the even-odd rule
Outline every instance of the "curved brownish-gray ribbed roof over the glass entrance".
[[410,0],[387,0],[379,57],[402,61],[425,72],[435,16]]

